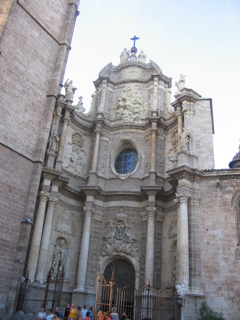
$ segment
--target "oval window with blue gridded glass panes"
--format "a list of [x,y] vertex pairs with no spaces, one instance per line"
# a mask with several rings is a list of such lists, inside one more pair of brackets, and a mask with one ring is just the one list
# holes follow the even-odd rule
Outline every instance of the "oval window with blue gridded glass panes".
[[119,174],[127,174],[134,171],[138,162],[138,153],[134,149],[124,149],[116,157],[115,170]]

